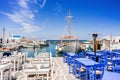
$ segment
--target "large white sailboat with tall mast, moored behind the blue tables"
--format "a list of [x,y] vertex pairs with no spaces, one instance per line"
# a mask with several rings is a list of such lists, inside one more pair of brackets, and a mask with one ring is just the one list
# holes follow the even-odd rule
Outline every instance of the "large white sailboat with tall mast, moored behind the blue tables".
[[56,46],[56,50],[58,52],[72,52],[79,53],[81,51],[81,43],[77,39],[77,37],[71,35],[71,19],[74,19],[71,16],[70,10],[68,12],[68,16],[66,16],[68,22],[68,35],[61,37],[61,42]]

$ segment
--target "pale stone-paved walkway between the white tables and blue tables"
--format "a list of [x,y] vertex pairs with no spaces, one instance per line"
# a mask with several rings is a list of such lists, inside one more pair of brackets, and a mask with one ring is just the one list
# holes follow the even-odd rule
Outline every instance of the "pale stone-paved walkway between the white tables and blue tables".
[[78,80],[73,74],[68,71],[68,66],[63,62],[62,57],[53,58],[55,63],[55,72],[52,80]]

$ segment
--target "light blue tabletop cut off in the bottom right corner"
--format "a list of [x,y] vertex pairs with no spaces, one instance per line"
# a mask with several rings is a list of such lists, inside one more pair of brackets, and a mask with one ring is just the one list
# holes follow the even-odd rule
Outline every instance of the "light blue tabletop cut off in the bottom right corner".
[[105,71],[102,80],[120,80],[120,73]]

